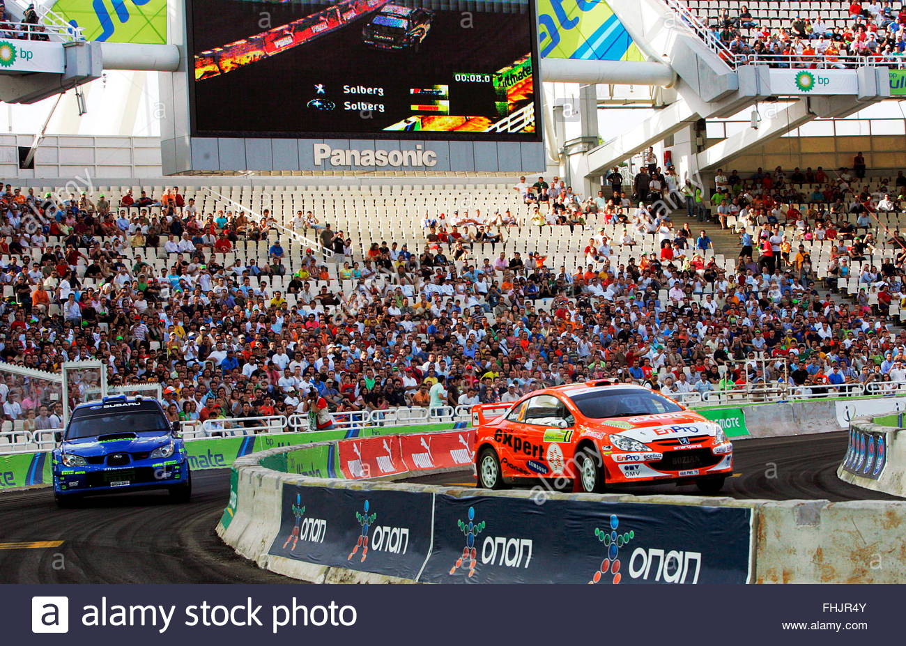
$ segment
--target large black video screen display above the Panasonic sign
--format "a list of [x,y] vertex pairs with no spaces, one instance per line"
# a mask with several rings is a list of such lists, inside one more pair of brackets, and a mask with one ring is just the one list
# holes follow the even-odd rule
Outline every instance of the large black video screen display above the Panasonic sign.
[[534,15],[529,0],[190,0],[192,134],[540,140]]

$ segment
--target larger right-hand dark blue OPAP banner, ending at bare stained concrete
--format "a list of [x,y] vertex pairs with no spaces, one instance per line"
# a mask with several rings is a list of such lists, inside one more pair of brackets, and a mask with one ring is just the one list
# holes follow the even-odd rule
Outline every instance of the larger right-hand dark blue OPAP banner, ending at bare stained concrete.
[[431,583],[747,583],[751,510],[435,499]]

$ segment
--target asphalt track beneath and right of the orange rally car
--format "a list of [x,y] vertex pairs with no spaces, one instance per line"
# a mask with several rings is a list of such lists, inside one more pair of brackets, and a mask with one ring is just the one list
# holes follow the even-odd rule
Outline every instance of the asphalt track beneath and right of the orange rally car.
[[[788,438],[741,439],[734,442],[733,477],[718,496],[762,500],[814,499],[900,500],[871,489],[855,487],[837,477],[846,454],[847,431],[799,435]],[[470,471],[415,477],[406,482],[430,485],[474,485]],[[535,482],[529,480],[528,486]],[[615,492],[700,496],[694,485],[634,485],[614,487]]]

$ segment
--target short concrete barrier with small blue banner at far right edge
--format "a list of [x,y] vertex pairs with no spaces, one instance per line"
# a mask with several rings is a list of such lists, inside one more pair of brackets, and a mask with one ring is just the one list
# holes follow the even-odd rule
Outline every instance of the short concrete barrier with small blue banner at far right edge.
[[857,418],[837,477],[858,487],[906,498],[906,429]]

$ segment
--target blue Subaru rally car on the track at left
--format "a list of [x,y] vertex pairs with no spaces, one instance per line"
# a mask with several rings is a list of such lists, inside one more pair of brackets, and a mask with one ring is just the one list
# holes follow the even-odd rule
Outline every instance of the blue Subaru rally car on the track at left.
[[177,502],[192,494],[185,443],[157,400],[120,395],[81,404],[57,441],[51,460],[59,506],[136,489],[169,489]]

